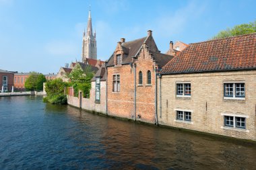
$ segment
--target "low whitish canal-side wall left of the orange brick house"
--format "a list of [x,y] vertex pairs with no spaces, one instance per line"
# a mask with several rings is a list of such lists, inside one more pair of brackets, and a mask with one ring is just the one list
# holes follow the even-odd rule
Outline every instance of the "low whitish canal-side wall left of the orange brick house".
[[[67,103],[80,108],[80,99],[74,97],[70,93],[73,92],[72,88],[68,89],[69,95],[67,95]],[[83,95],[82,95],[83,96]],[[100,81],[100,103],[95,102],[95,81],[92,81],[92,89],[90,90],[90,98],[82,97],[82,109],[89,110],[91,112],[98,112],[106,114],[106,81]]]

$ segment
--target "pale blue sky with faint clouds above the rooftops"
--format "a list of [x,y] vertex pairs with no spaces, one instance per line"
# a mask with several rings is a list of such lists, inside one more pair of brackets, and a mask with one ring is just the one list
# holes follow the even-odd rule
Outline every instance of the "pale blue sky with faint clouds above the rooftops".
[[161,52],[170,40],[187,44],[256,19],[256,1],[0,0],[0,69],[57,73],[81,59],[91,5],[98,58],[106,60],[120,38],[153,36]]

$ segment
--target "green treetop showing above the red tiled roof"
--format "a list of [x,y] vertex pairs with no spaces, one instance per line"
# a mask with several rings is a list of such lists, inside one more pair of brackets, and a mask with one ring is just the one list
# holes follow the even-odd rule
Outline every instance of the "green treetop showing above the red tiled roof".
[[234,26],[234,28],[227,28],[224,31],[219,32],[216,36],[212,38],[212,40],[226,38],[230,36],[239,36],[243,34],[251,34],[256,32],[256,21],[250,22],[249,24],[241,24],[238,26]]

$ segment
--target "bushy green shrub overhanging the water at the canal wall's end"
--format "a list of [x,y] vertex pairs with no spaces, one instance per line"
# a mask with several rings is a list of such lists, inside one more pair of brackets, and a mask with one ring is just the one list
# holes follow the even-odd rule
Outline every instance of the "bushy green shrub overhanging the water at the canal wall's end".
[[62,79],[53,79],[45,83],[45,91],[47,96],[44,97],[44,102],[52,104],[67,104],[67,96],[64,93],[65,83]]

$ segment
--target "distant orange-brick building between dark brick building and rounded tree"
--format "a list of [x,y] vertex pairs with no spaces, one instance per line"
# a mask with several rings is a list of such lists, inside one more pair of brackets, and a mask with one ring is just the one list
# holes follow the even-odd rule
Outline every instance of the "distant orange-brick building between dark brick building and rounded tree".
[[14,90],[25,91],[25,81],[30,77],[30,73],[15,73],[14,74]]

